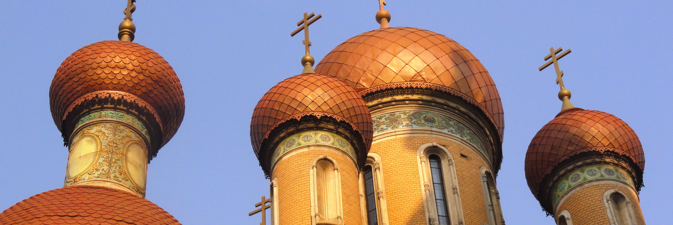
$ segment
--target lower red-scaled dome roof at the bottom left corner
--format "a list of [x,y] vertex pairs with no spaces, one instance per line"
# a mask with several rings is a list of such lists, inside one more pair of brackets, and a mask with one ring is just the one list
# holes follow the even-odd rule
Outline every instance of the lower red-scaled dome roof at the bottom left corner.
[[143,197],[108,187],[75,185],[45,191],[0,214],[0,224],[135,224],[180,222]]

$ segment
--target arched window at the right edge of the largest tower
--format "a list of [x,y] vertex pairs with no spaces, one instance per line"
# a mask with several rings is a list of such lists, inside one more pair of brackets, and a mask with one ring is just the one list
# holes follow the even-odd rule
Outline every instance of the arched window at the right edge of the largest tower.
[[486,210],[489,214],[490,224],[505,224],[503,220],[502,209],[500,208],[500,195],[495,187],[495,179],[490,171],[481,167],[481,181],[484,191],[484,200],[486,201]]

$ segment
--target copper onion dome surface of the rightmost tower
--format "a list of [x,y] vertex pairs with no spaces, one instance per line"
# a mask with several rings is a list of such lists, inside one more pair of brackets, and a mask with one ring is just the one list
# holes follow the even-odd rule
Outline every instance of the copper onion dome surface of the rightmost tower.
[[643,146],[629,124],[612,114],[566,109],[538,131],[526,152],[526,180],[538,194],[542,179],[561,161],[581,152],[611,150],[645,169]]

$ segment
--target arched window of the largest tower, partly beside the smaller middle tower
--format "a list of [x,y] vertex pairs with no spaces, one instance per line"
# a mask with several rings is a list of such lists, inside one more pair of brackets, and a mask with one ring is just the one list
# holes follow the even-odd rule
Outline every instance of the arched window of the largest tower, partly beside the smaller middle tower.
[[381,156],[376,152],[369,152],[365,167],[360,173],[360,207],[363,224],[388,224],[386,190],[381,164]]

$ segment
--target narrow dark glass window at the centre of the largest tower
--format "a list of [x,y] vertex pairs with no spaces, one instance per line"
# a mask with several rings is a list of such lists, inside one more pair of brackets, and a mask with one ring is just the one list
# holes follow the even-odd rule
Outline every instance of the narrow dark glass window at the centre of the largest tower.
[[435,190],[435,204],[437,204],[437,219],[440,225],[448,225],[449,209],[446,204],[446,190],[444,190],[444,175],[441,174],[441,159],[436,154],[428,157],[430,161],[430,173],[432,174],[432,184]]

